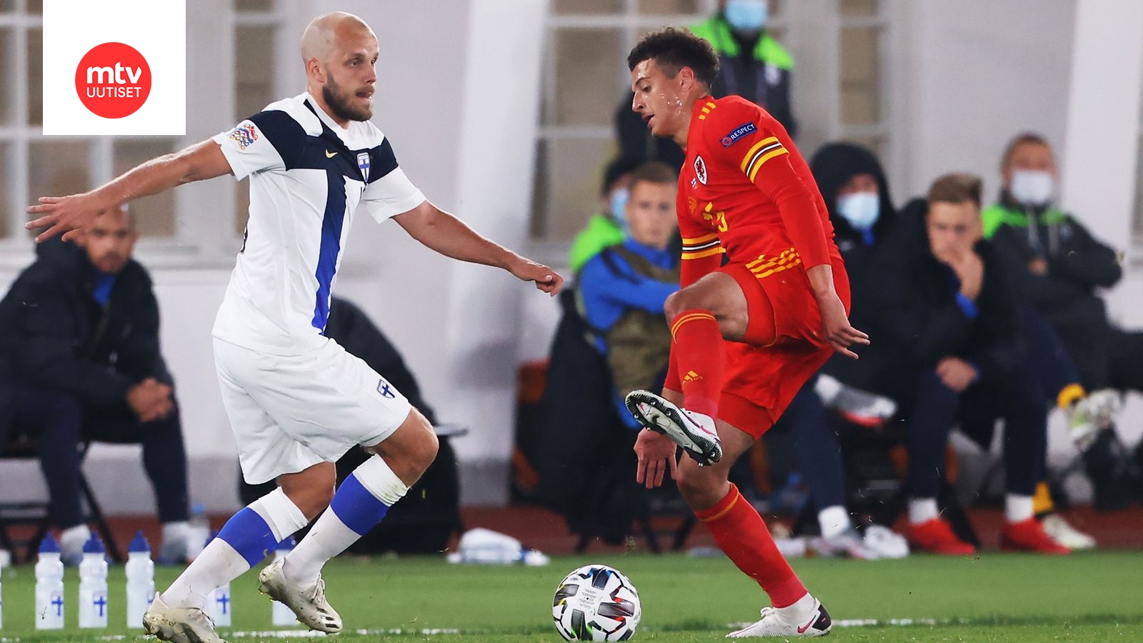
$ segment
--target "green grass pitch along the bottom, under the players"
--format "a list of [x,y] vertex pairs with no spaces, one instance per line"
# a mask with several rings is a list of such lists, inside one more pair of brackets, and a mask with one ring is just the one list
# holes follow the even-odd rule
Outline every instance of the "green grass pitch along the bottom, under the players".
[[[326,567],[328,595],[349,630],[343,641],[560,641],[551,595],[565,573],[590,562],[616,566],[639,589],[639,641],[716,641],[732,622],[757,619],[765,596],[725,558],[682,555],[557,557],[546,567],[455,566],[441,558],[338,559]],[[804,559],[793,563],[834,621],[930,619],[936,625],[834,627],[852,641],[1138,641],[1143,640],[1143,553],[1102,551],[1066,557],[990,554],[973,558],[913,556],[903,561]],[[161,569],[165,587],[177,570]],[[78,579],[69,570],[69,628],[33,629],[32,569],[3,575],[0,640],[93,641],[129,635],[123,627],[123,572],[112,570],[112,627],[75,627]],[[232,586],[234,628],[264,632],[270,603],[248,573]],[[461,634],[421,634],[425,628]],[[387,634],[389,630],[405,634]],[[353,634],[352,630],[369,630]],[[386,634],[383,634],[386,633]],[[226,636],[227,632],[222,632]],[[251,640],[257,636],[234,637]],[[288,641],[307,641],[294,636]],[[282,641],[279,638],[278,641]]]

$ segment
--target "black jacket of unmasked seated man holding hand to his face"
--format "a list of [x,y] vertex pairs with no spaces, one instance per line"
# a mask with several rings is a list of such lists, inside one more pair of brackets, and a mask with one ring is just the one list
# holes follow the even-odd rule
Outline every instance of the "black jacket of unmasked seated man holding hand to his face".
[[878,379],[884,384],[954,356],[980,370],[982,384],[1002,386],[1020,367],[1024,347],[1000,260],[988,241],[976,244],[984,278],[975,301],[977,315],[970,319],[957,303],[956,275],[929,249],[927,208],[920,199],[909,204],[877,259],[876,313],[868,332],[871,352],[879,356]]

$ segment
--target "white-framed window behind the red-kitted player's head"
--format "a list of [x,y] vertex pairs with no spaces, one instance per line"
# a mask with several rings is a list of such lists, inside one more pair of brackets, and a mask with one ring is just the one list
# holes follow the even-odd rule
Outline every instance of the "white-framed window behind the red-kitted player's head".
[[[767,31],[793,53],[794,86],[829,96],[828,110],[794,114],[810,145],[846,140],[871,148],[895,167],[888,101],[889,2],[885,0],[770,0]],[[626,54],[645,33],[690,25],[718,0],[553,0],[547,18],[538,128],[531,239],[554,252],[599,208],[604,165],[616,151],[614,119],[626,95]],[[829,25],[826,41],[820,40]],[[821,51],[831,53],[821,59]],[[836,54],[836,55],[834,55]],[[818,57],[799,65],[800,57]],[[815,135],[816,134],[816,135]],[[801,140],[799,140],[801,142]],[[813,149],[804,149],[807,157]]]

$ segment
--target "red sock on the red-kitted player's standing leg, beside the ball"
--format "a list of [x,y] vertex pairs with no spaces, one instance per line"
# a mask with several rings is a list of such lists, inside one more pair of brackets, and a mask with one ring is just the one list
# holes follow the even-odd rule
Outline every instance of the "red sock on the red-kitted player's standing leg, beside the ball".
[[710,509],[695,511],[695,516],[706,524],[719,549],[769,594],[772,605],[785,608],[806,595],[806,586],[778,551],[762,517],[734,483],[722,500]]

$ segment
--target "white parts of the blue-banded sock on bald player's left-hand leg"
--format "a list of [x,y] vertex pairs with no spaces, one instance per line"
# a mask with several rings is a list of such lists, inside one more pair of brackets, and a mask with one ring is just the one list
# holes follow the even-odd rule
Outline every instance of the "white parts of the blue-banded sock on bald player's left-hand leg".
[[[305,519],[302,510],[297,508],[297,505],[294,505],[294,501],[286,495],[286,492],[281,487],[255,500],[249,505],[248,509],[253,509],[254,513],[265,521],[274,542],[286,539],[286,537],[302,529],[309,522]],[[239,514],[242,514],[242,511],[235,514],[235,517],[232,517],[231,521],[239,521]],[[249,514],[246,515],[249,516]],[[257,517],[254,517],[254,521],[257,522]],[[227,525],[231,524],[234,523],[227,522]],[[223,527],[224,533],[226,529],[225,526]],[[265,527],[262,527],[262,530],[261,541],[264,541],[266,539],[264,534]],[[254,542],[255,547],[261,548],[259,539],[251,539],[251,542]],[[198,608],[201,610],[206,604],[207,594],[216,587],[242,575],[249,569],[250,563],[230,542],[226,542],[222,538],[215,538],[183,570],[183,573],[175,579],[175,582],[170,584],[170,587],[162,593],[163,601],[173,608]]]

